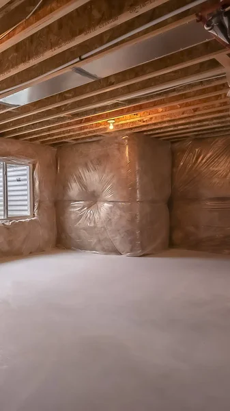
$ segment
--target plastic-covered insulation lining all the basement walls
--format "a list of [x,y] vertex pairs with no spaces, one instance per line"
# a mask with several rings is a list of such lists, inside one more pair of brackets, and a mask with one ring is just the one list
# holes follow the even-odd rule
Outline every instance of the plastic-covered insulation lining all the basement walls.
[[0,199],[0,256],[56,244],[141,256],[167,248],[169,238],[173,247],[230,253],[229,137],[171,150],[147,136],[110,136],[60,147],[57,158],[51,147],[1,138],[0,162],[9,160],[32,165],[33,215],[4,221]]

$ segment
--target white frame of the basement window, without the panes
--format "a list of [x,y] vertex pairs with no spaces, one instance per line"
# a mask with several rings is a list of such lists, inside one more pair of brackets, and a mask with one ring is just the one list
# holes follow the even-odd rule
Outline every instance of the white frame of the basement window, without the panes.
[[[3,213],[5,214],[3,218],[0,217],[0,221],[16,221],[16,220],[27,220],[33,218],[33,164],[20,162],[20,160],[6,160],[5,158],[0,158],[0,162],[3,164]],[[8,171],[7,164],[13,164],[14,166],[27,166],[27,178],[28,184],[28,200],[29,200],[29,214],[27,216],[8,216]]]

